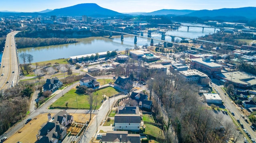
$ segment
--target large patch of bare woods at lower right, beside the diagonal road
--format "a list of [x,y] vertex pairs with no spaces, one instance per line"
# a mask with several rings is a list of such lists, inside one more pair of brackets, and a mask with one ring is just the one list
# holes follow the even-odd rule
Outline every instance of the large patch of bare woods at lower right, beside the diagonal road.
[[165,126],[167,141],[180,143],[237,142],[241,135],[232,122],[223,122],[199,100],[196,84],[185,82],[179,74],[154,74],[148,80],[154,113]]

